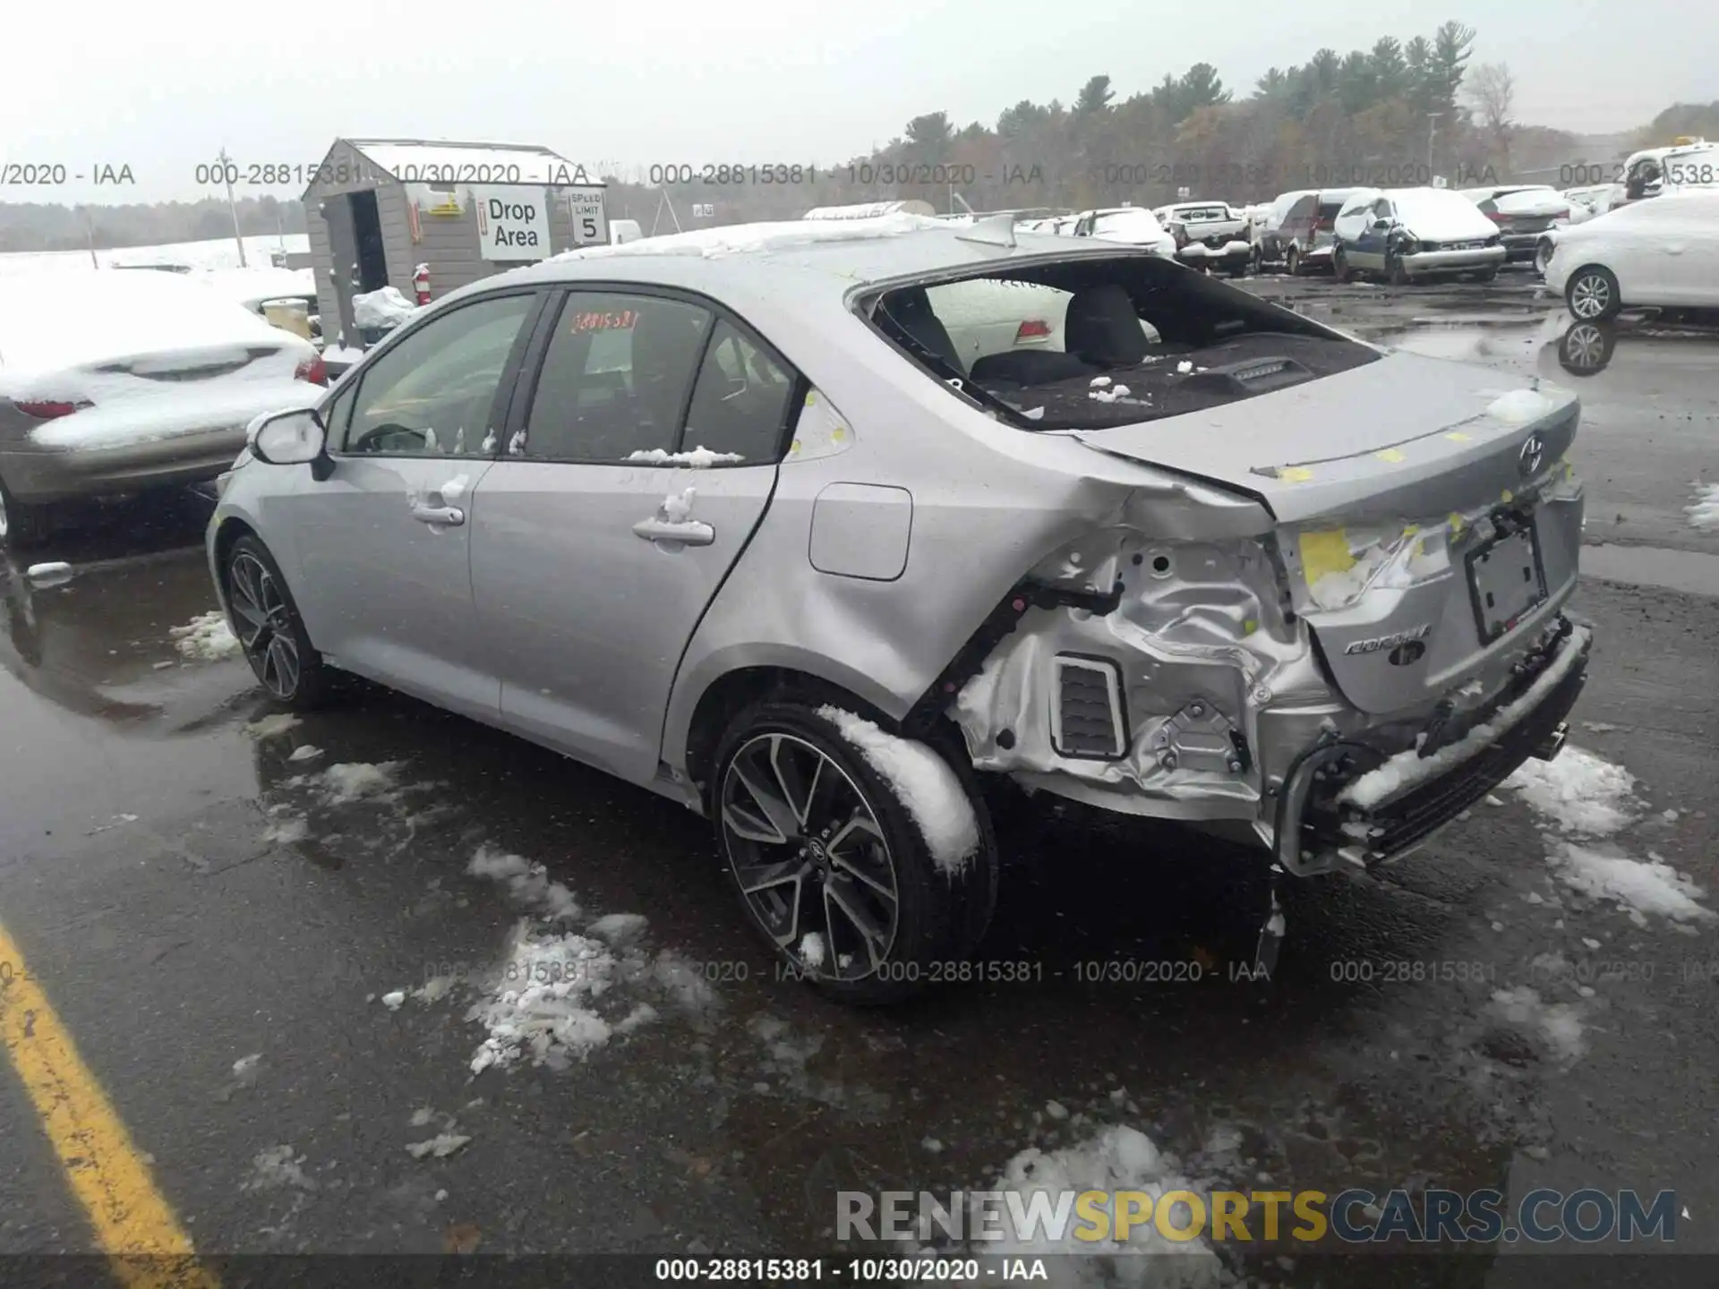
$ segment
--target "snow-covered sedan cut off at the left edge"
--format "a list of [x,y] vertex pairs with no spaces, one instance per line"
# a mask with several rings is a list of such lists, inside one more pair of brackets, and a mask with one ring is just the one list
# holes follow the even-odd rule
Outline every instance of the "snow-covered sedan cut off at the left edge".
[[67,498],[213,480],[261,412],[327,383],[309,340],[170,273],[9,278],[0,294],[0,543]]

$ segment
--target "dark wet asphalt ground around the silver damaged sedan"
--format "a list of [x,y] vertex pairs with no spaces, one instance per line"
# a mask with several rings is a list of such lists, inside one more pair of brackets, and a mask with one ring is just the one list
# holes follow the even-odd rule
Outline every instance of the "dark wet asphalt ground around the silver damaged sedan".
[[[1719,330],[1624,320],[1609,364],[1576,376],[1569,320],[1528,275],[1251,285],[1368,339],[1580,385],[1588,543],[1611,553],[1575,603],[1597,646],[1573,742],[1640,780],[1649,822],[1616,840],[1719,889],[1719,533],[1683,510],[1719,481]],[[170,638],[215,607],[206,514],[189,493],[112,507],[38,557],[77,565],[70,581],[0,574],[0,921],[203,1251],[823,1248],[837,1189],[983,1186],[1026,1146],[1126,1122],[1243,1189],[1678,1191],[1676,1251],[1561,1262],[1566,1284],[1669,1284],[1666,1258],[1719,1255],[1719,944],[1559,899],[1513,794],[1377,880],[1288,887],[1275,978],[1248,983],[1231,964],[1265,899],[1253,854],[1004,791],[980,957],[1031,978],[849,1011],[775,978],[707,825],[658,797],[363,686],[258,729],[246,665],[187,662]],[[401,761],[401,787],[323,804],[294,782],[303,744],[315,767]],[[303,839],[272,837],[294,820]],[[639,952],[707,988],[636,981],[657,1023],[571,1069],[473,1076],[474,978],[521,914],[466,875],[480,846],[543,863],[593,918],[643,914]],[[1093,962],[1196,962],[1200,980],[1090,981]],[[1387,981],[1422,974],[1392,962],[1441,978]],[[442,999],[380,1002],[447,974]],[[1583,1055],[1489,1007],[1521,985],[1580,1011]],[[1239,1150],[1214,1148],[1227,1129]],[[437,1131],[471,1139],[407,1153]],[[88,1251],[3,1062],[0,1143],[0,1255]],[[258,1167],[282,1146],[297,1172]],[[1284,1286],[1545,1277],[1504,1246],[1437,1267],[1279,1255],[1236,1267]],[[1678,1282],[1719,1282],[1712,1267]]]

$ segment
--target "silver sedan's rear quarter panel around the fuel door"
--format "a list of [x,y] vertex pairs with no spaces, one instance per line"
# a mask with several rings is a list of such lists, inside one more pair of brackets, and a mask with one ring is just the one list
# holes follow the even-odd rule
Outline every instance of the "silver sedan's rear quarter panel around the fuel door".
[[[782,464],[770,509],[682,660],[664,729],[664,758],[677,770],[686,768],[700,696],[739,669],[804,672],[902,718],[1030,569],[1114,528],[1129,505],[1136,516],[1147,505],[1181,536],[1202,526],[1270,528],[1270,516],[1250,500],[1093,452],[1066,435],[999,425],[860,320],[847,321],[844,344],[820,352],[820,337],[834,340],[842,328],[818,328],[787,356],[841,411],[854,443]],[[856,364],[853,351],[868,345],[885,361]],[[909,553],[897,579],[813,567],[813,504],[832,483],[913,493]],[[1076,583],[1088,579],[1076,574]]]

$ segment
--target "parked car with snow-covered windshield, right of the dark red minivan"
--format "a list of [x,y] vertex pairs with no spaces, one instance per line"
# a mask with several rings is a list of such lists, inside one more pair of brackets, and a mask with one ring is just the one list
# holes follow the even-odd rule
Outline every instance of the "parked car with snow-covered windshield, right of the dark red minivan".
[[1377,273],[1394,284],[1468,275],[1497,277],[1502,234],[1473,201],[1444,187],[1360,189],[1336,220],[1332,272],[1339,282]]

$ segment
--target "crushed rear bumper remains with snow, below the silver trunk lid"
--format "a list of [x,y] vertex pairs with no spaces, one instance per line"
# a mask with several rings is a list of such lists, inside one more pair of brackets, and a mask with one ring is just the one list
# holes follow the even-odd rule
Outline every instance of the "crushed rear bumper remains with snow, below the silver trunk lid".
[[1559,615],[1490,703],[1386,751],[1327,737],[1303,751],[1277,797],[1275,858],[1300,877],[1399,859],[1530,758],[1563,748],[1594,634]]

